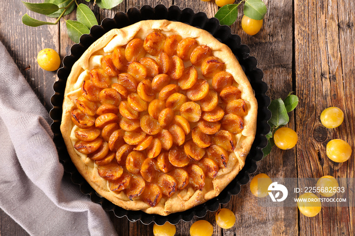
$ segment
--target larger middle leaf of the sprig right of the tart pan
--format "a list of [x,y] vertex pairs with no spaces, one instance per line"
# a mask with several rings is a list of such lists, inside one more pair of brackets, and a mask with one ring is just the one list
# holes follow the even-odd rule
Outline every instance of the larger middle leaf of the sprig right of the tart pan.
[[270,126],[285,126],[289,123],[289,115],[281,98],[272,100],[269,105],[269,110],[271,111],[271,119],[269,121]]

